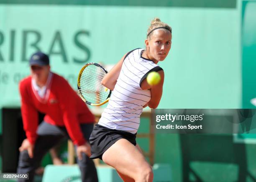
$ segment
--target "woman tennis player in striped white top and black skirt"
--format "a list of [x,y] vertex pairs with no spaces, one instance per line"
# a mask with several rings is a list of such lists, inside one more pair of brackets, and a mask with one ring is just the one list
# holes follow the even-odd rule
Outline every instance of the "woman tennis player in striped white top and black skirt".
[[[100,158],[114,167],[125,182],[153,181],[152,168],[136,144],[136,133],[143,107],[159,105],[164,71],[157,63],[166,58],[171,43],[171,27],[154,18],[147,31],[146,49],[128,52],[101,82],[113,92],[90,136],[91,158]],[[161,76],[154,86],[146,81],[152,71]]]

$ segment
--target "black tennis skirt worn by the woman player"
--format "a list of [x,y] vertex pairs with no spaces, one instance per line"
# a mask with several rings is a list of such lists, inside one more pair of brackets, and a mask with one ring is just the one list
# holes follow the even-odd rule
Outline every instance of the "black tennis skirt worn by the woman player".
[[119,139],[126,139],[136,146],[136,134],[113,130],[102,125],[96,124],[90,136],[91,159],[100,158],[102,160],[103,153],[108,150]]

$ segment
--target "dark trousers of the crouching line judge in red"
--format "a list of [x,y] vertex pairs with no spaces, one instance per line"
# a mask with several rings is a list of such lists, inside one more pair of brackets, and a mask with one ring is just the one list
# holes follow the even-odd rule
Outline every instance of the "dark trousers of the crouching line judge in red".
[[[93,124],[80,125],[84,138],[89,141]],[[28,156],[28,151],[20,152],[17,173],[28,173],[29,180],[19,182],[33,182],[35,170],[40,166],[41,160],[52,147],[58,145],[64,137],[69,138],[65,127],[57,127],[47,122],[41,122],[37,130],[38,138],[34,145],[33,158]],[[97,182],[97,171],[94,162],[83,153],[82,160],[77,159],[81,171],[82,182]]]

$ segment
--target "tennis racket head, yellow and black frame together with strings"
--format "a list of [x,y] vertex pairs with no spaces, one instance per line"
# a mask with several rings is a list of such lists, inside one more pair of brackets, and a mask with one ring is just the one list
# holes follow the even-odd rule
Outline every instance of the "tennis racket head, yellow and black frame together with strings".
[[108,102],[111,90],[100,84],[107,73],[104,67],[93,62],[82,67],[77,78],[77,88],[84,102],[93,106]]

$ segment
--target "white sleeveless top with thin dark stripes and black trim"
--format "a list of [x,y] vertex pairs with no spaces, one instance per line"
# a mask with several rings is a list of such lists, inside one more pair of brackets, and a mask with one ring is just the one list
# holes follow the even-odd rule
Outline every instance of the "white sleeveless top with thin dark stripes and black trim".
[[152,60],[143,58],[141,48],[128,52],[123,61],[108,106],[99,125],[135,134],[140,125],[143,106],[151,99],[150,90],[142,90],[141,82],[149,72],[162,70]]

